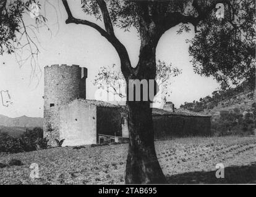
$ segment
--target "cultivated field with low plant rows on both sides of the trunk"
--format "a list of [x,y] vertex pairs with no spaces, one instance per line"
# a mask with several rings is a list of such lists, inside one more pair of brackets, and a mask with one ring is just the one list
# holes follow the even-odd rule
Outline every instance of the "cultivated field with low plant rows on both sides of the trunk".
[[[255,137],[195,137],[157,141],[155,146],[169,183],[256,181]],[[24,165],[0,169],[0,184],[124,183],[127,148],[127,144],[80,150],[64,147],[3,155],[0,163],[15,158]],[[40,179],[30,179],[32,163],[39,164]],[[226,167],[225,179],[216,179],[217,163]]]

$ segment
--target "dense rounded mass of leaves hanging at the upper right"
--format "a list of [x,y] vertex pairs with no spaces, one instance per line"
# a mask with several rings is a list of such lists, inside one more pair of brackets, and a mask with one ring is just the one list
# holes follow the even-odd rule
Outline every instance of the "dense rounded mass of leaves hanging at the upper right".
[[199,23],[189,47],[195,73],[213,76],[223,89],[244,80],[255,86],[255,2],[232,7],[232,20],[211,15]]

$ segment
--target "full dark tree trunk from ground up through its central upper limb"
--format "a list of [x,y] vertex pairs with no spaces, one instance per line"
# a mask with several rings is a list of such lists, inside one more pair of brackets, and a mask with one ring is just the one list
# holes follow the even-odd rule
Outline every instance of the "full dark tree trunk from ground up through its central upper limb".
[[[155,22],[148,14],[149,7],[142,3],[142,15],[140,16],[140,55],[139,62],[132,79],[155,79],[156,76],[156,45],[160,39]],[[129,152],[126,163],[126,183],[167,183],[163,171],[158,163],[154,144],[154,131],[152,109],[150,108],[150,93],[152,87],[148,83],[147,101],[129,100],[130,76],[124,74],[127,82],[127,108],[129,128]],[[144,88],[144,87],[143,87]],[[155,95],[155,87],[153,94]],[[142,89],[140,90],[140,93]],[[136,92],[135,92],[136,94]],[[144,94],[144,93],[143,93]],[[143,96],[143,95],[142,95]]]

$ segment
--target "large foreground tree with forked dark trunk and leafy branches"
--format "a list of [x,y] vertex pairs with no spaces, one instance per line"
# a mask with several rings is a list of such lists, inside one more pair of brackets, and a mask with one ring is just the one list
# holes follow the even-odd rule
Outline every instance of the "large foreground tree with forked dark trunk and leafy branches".
[[[213,75],[218,81],[237,81],[249,79],[250,73],[254,72],[255,51],[252,49],[255,48],[255,26],[251,28],[255,25],[253,0],[82,0],[85,14],[103,20],[105,28],[74,17],[74,11],[69,7],[72,1],[62,0],[62,3],[67,12],[67,24],[94,28],[116,49],[127,84],[130,79],[155,79],[156,46],[161,36],[176,25],[180,25],[178,33],[189,31],[189,24],[195,27],[196,35],[189,51],[197,73]],[[218,21],[216,30],[213,23],[216,22],[217,4],[217,9],[220,5],[224,6],[225,14]],[[5,5],[0,5],[0,8],[2,6]],[[137,29],[140,37],[139,62],[135,66],[131,65],[126,47],[114,32],[114,27],[127,30],[131,26]],[[12,34],[10,39],[13,39]],[[166,183],[155,153],[150,100],[127,100],[127,108],[130,142],[126,183]]]

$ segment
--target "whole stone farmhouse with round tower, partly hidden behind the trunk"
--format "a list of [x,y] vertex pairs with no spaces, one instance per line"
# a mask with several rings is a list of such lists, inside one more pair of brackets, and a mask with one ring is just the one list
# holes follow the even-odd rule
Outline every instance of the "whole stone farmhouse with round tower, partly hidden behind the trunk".
[[[45,66],[44,137],[49,145],[65,139],[62,146],[127,142],[126,107],[86,99],[87,68],[79,65]],[[166,102],[166,101],[165,101]],[[210,135],[210,116],[153,108],[155,139]]]

